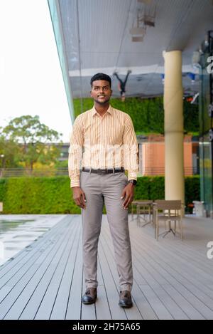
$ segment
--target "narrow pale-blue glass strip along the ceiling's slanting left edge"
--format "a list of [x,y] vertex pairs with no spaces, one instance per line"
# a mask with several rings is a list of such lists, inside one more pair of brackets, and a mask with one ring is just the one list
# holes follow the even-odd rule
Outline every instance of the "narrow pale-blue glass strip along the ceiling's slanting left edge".
[[72,104],[72,93],[71,93],[71,88],[70,88],[70,78],[68,74],[69,71],[67,68],[67,61],[65,58],[65,46],[62,41],[63,35],[62,35],[62,25],[60,22],[60,15],[58,14],[60,10],[58,1],[48,0],[48,6],[50,9],[50,16],[52,19],[53,30],[55,33],[55,41],[56,41],[57,48],[58,48],[58,56],[60,59],[60,66],[62,70],[63,80],[65,83],[65,90],[67,93],[67,101],[68,101],[68,105],[70,109],[70,117],[73,123],[75,120],[75,114],[74,114],[74,108]]

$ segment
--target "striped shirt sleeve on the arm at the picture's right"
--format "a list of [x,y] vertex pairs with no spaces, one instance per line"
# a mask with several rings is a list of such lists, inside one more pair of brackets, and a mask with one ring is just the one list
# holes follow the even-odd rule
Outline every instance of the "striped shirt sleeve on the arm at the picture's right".
[[124,125],[124,168],[128,170],[128,180],[137,179],[138,166],[138,141],[133,127],[133,122],[128,114]]

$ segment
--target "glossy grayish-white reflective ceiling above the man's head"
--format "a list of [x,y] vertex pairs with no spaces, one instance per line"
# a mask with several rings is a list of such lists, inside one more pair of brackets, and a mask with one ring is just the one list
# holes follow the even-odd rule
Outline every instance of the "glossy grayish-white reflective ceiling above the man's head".
[[[59,0],[72,94],[89,96],[89,80],[97,72],[112,75],[118,71],[126,84],[126,95],[163,94],[161,74],[163,51],[182,51],[183,73],[194,72],[192,54],[198,50],[208,30],[213,29],[212,0]],[[143,42],[131,41],[137,9],[154,11],[155,27],[147,27]],[[81,73],[81,75],[80,75]],[[114,96],[119,96],[113,78]],[[199,75],[192,85],[187,75],[183,85],[188,92],[198,90]]]

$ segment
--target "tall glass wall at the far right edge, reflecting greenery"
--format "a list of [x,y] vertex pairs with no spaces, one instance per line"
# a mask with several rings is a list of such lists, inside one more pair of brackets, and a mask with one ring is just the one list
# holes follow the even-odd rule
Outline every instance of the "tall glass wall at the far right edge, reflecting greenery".
[[203,53],[200,56],[200,187],[201,200],[204,202],[207,216],[213,218],[213,141],[212,115],[209,113],[213,103],[212,74],[208,73],[207,61],[213,54],[212,33],[202,44]]

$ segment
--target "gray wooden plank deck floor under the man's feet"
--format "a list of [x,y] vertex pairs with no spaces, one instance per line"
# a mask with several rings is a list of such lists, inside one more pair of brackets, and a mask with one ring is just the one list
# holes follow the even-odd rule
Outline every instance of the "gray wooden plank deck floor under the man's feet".
[[[131,217],[129,217],[131,220]],[[213,319],[213,221],[185,218],[185,240],[155,241],[153,227],[129,223],[133,308],[118,306],[114,251],[103,216],[98,299],[84,306],[81,216],[67,215],[0,268],[1,319]]]

